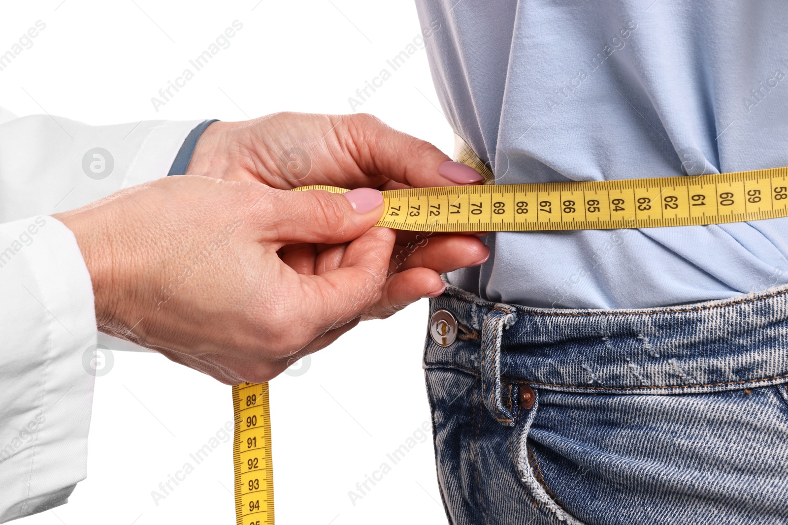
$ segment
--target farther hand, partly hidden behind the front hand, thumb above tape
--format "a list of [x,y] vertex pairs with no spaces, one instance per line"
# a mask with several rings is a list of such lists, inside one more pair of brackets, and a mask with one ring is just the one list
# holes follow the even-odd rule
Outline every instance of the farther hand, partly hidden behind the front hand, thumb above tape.
[[[455,186],[483,180],[452,162],[429,142],[396,131],[374,116],[275,113],[245,122],[214,122],[201,135],[187,172],[235,181],[257,181],[289,190],[325,184],[379,190]],[[284,261],[303,275],[305,261],[342,246],[291,246]],[[301,257],[306,257],[302,261]],[[444,290],[440,273],[475,266],[489,249],[473,235],[398,232],[388,284],[370,317],[390,316]]]

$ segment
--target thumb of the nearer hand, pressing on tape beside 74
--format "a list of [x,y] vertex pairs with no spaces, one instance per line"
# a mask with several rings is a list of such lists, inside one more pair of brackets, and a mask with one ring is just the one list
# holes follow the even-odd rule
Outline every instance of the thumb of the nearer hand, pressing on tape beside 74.
[[383,195],[372,188],[269,190],[256,215],[264,240],[336,244],[358,238],[381,219]]

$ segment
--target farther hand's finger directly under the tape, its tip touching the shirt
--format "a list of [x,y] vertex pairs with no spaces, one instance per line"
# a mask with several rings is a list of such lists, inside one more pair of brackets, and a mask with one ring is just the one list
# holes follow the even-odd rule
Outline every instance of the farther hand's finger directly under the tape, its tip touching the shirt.
[[453,272],[483,264],[489,256],[489,248],[478,238],[441,235],[430,238],[424,246],[394,246],[388,269],[403,272],[409,268],[430,268],[439,273]]

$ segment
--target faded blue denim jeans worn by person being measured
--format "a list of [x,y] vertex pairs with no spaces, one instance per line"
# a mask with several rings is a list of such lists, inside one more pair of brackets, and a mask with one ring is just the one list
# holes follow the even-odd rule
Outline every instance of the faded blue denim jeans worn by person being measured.
[[554,310],[455,287],[427,335],[450,523],[788,523],[788,287]]

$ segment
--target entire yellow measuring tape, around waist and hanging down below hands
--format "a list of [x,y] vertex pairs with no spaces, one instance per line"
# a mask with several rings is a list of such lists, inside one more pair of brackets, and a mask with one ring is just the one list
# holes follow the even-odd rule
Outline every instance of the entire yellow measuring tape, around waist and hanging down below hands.
[[[468,148],[455,158],[492,172]],[[299,190],[347,190],[312,186]],[[788,216],[788,168],[601,182],[383,192],[377,226],[411,231],[545,231],[722,224]],[[232,387],[238,525],[273,523],[268,383]]]

